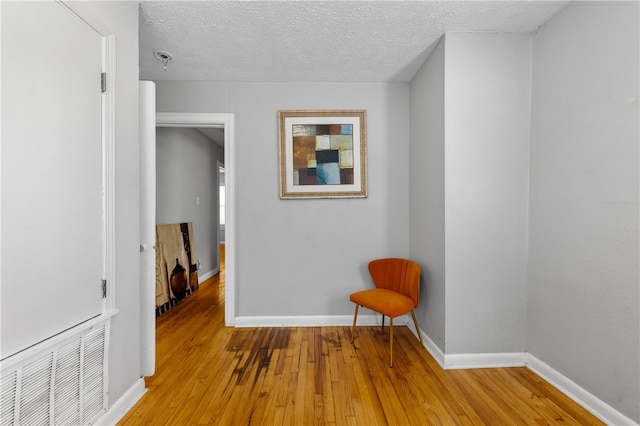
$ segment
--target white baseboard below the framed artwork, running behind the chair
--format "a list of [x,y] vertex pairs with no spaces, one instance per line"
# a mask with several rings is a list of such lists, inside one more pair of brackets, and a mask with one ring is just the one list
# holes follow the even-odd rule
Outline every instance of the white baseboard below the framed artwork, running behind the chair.
[[[380,325],[380,315],[358,315],[357,326]],[[387,320],[388,321],[388,320]],[[388,322],[387,322],[388,323]],[[350,326],[353,315],[307,315],[281,317],[236,317],[235,326],[245,327],[331,327]],[[394,320],[396,325],[406,325],[404,317]]]

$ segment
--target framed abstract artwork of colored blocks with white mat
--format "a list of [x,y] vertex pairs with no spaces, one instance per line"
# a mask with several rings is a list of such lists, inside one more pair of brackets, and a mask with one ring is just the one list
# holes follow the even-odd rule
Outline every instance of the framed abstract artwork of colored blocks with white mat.
[[280,198],[365,198],[365,110],[278,111]]

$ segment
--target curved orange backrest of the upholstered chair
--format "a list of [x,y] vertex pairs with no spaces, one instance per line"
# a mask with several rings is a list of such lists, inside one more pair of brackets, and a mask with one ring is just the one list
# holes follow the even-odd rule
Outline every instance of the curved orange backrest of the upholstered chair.
[[369,274],[377,288],[402,293],[418,307],[420,300],[420,265],[408,259],[385,258],[369,262]]

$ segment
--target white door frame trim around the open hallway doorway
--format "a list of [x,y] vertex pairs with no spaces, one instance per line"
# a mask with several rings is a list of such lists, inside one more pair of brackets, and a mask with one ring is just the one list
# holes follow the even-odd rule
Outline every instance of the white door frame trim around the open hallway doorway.
[[157,127],[214,127],[224,129],[226,191],[224,323],[235,325],[235,129],[233,114],[156,113]]

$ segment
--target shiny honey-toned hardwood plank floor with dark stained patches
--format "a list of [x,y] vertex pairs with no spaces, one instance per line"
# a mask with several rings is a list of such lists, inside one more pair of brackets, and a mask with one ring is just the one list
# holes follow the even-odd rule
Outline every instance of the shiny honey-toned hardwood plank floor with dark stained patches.
[[216,276],[157,320],[120,425],[602,424],[527,368],[445,371],[407,327],[389,368],[388,328],[228,328],[223,300]]

